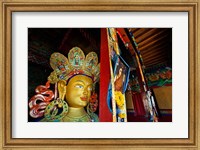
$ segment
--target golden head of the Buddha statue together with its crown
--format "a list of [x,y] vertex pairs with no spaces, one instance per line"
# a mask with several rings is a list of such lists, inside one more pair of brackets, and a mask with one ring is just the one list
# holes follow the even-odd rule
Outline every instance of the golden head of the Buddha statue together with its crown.
[[[75,63],[77,58],[78,63]],[[62,101],[54,104],[62,107],[62,103],[67,103],[70,109],[77,111],[88,106],[95,83],[99,79],[100,64],[97,54],[90,52],[85,57],[80,48],[74,47],[69,51],[68,58],[58,52],[53,53],[50,65],[53,72],[48,81],[57,85],[58,99]]]

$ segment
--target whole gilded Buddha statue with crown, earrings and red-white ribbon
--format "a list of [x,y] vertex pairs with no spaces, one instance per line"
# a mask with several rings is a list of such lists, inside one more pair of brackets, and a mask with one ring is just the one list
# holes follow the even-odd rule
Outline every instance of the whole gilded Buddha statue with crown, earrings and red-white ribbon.
[[80,48],[74,47],[68,59],[58,52],[53,53],[50,65],[53,72],[43,90],[46,88],[50,93],[49,84],[55,84],[55,94],[40,104],[36,101],[41,93],[32,97],[29,114],[34,118],[44,116],[41,121],[46,122],[98,122],[94,113],[98,104],[95,83],[100,70],[97,54],[90,52],[85,57]]

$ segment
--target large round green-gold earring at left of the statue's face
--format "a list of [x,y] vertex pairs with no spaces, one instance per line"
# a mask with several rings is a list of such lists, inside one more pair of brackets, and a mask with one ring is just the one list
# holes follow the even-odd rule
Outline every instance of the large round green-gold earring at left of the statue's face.
[[[62,111],[62,112],[60,112]],[[44,117],[47,121],[61,121],[61,119],[68,113],[68,104],[57,98],[53,100],[45,109]]]

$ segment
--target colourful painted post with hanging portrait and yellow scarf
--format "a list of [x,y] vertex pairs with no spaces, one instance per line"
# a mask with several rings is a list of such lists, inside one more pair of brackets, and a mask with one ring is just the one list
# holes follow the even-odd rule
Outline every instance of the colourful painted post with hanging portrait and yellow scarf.
[[[117,122],[127,122],[125,91],[129,79],[129,66],[120,56],[120,49],[117,43],[116,30],[108,28],[110,61],[113,75],[109,88],[108,106],[116,115]],[[112,102],[110,102],[112,100]],[[114,105],[114,106],[113,106]]]

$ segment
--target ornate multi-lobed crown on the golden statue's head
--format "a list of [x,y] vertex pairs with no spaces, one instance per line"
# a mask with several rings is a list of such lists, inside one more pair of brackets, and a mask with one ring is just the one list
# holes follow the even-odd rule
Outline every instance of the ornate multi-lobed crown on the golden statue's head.
[[72,76],[83,74],[89,76],[94,82],[99,79],[100,64],[95,52],[90,52],[85,57],[79,47],[73,47],[68,53],[68,59],[61,53],[55,52],[50,57],[53,72],[48,80],[54,84],[59,80],[68,80]]

